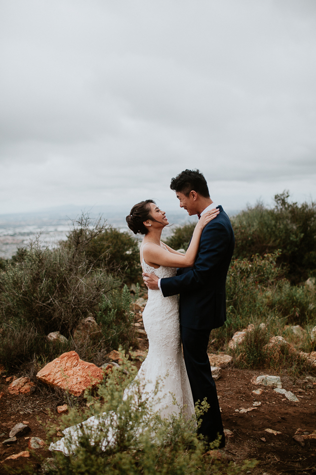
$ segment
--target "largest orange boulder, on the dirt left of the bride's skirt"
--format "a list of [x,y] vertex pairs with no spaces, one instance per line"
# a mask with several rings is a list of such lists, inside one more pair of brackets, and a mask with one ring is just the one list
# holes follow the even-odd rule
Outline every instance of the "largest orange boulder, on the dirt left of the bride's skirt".
[[68,351],[42,368],[37,378],[45,384],[80,396],[87,387],[94,387],[102,381],[103,371],[92,363],[80,360],[76,351]]

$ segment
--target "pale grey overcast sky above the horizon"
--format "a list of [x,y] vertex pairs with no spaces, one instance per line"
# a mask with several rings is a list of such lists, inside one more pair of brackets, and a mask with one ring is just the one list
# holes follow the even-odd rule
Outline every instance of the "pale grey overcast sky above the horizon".
[[315,0],[1,0],[0,213],[316,199]]

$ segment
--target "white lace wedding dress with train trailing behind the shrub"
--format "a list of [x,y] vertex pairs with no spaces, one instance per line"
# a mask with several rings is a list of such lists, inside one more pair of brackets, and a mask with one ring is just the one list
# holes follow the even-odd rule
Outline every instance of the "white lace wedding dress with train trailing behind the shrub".
[[[158,245],[147,242],[147,244]],[[144,248],[143,246],[143,248]],[[165,247],[161,243],[161,246]],[[158,269],[146,264],[143,257],[142,248],[142,268],[149,274],[155,274],[159,278],[173,277],[176,269],[173,267],[160,266]],[[165,247],[166,249],[166,247]],[[194,414],[194,402],[191,387],[183,359],[180,323],[179,323],[179,301],[178,295],[163,297],[160,290],[148,290],[148,301],[143,312],[144,327],[148,336],[148,355],[141,365],[134,381],[139,381],[140,387],[146,397],[152,398],[152,408],[158,411],[160,416],[165,418],[168,415],[179,414],[182,411],[190,419]],[[158,383],[158,391],[155,390]],[[124,391],[125,399],[133,391],[131,383]],[[176,404],[174,404],[176,402]],[[96,438],[102,431],[102,425],[113,424],[113,418],[109,418],[104,413],[100,416],[92,416],[83,423],[68,427],[63,432],[65,437],[55,443],[50,444],[50,450],[59,450],[65,455],[70,455],[75,451],[79,443],[82,431],[94,432]],[[104,447],[109,445],[109,437],[114,435],[113,431],[108,432],[108,439],[104,441]],[[93,436],[91,436],[93,445]]]

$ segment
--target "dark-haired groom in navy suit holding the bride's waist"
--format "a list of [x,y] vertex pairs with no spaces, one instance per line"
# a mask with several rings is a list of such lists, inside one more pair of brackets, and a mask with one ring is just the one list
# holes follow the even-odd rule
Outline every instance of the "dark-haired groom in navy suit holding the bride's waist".
[[160,289],[164,297],[180,294],[180,329],[184,360],[194,402],[206,398],[209,409],[202,416],[199,433],[206,442],[225,435],[215,382],[207,356],[210,332],[226,320],[225,283],[232,259],[235,237],[229,217],[222,206],[210,198],[206,180],[199,170],[185,170],[171,180],[171,190],[180,208],[198,219],[208,210],[219,208],[218,216],[203,229],[194,267],[177,269],[175,277],[158,279],[143,274],[150,289]]

